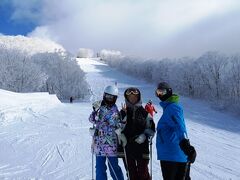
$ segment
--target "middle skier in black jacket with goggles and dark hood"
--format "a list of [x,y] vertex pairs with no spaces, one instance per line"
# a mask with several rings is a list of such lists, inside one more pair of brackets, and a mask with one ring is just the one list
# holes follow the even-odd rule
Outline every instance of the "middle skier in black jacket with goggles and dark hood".
[[131,180],[150,180],[148,138],[154,135],[155,125],[151,115],[142,106],[139,89],[126,89],[124,97],[126,105],[120,113],[126,125],[119,139],[126,141],[123,142],[125,167]]

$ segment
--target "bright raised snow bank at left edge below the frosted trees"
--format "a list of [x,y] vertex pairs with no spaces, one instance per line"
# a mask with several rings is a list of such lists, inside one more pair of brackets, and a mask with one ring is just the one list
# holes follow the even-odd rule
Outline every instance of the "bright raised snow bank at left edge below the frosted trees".
[[0,89],[0,126],[38,116],[61,102],[48,93],[14,93]]

